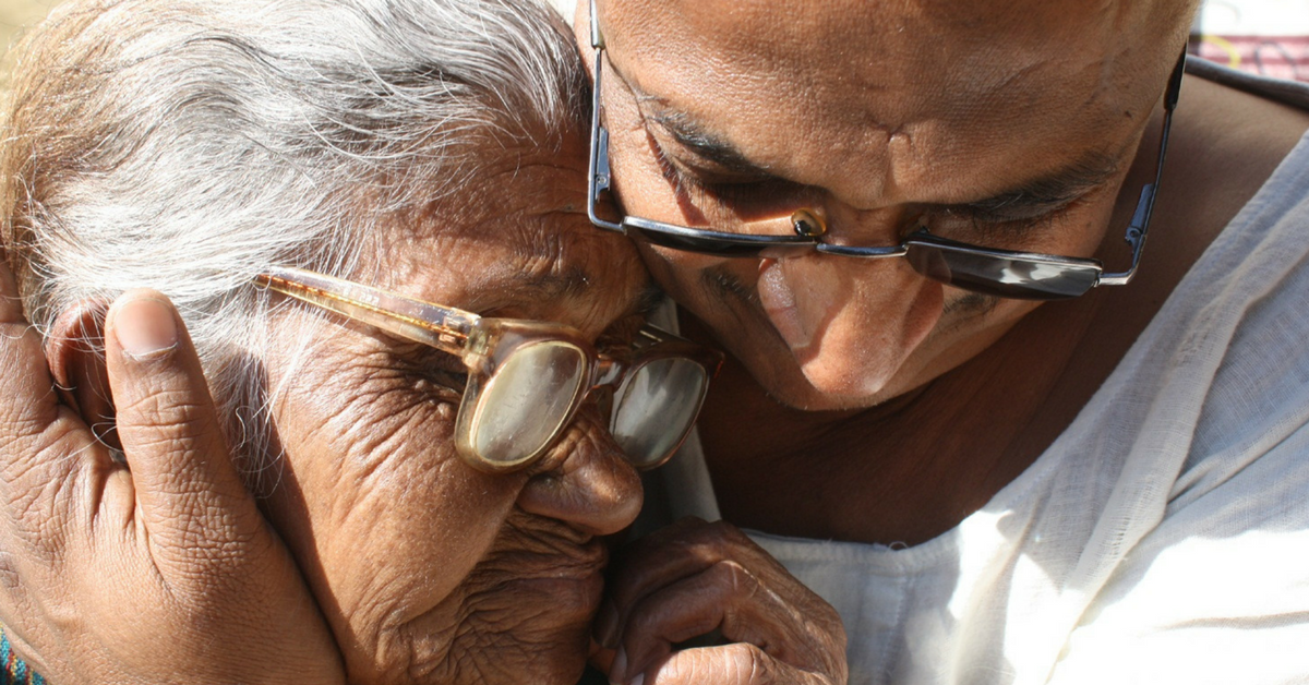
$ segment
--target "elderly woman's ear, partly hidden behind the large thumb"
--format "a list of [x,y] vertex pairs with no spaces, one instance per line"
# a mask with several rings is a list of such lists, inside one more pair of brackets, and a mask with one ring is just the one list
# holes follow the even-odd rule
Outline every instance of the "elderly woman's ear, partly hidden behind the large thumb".
[[96,437],[120,452],[105,365],[107,310],[107,301],[82,300],[60,313],[46,335],[46,360],[64,403],[81,415]]

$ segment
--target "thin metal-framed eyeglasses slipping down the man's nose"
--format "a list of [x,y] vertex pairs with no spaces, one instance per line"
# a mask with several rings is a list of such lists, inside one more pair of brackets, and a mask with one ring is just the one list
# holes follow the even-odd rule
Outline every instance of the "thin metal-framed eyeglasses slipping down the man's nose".
[[872,248],[833,245],[821,240],[826,228],[812,212],[805,210],[792,215],[795,234],[791,236],[729,233],[630,215],[614,220],[601,217],[597,206],[602,202],[601,194],[610,191],[611,178],[609,130],[601,123],[605,38],[596,21],[596,0],[590,1],[590,43],[596,48],[594,102],[590,115],[590,182],[586,199],[586,212],[592,224],[618,231],[653,245],[716,257],[781,258],[806,251],[863,259],[903,257],[915,271],[929,279],[973,292],[1024,300],[1076,297],[1096,286],[1124,286],[1136,274],[1141,250],[1145,246],[1151,212],[1155,208],[1155,195],[1164,173],[1168,132],[1173,123],[1173,109],[1177,106],[1186,64],[1186,52],[1183,51],[1177,60],[1164,96],[1164,131],[1158,143],[1155,181],[1141,187],[1136,211],[1127,225],[1124,240],[1132,249],[1131,266],[1127,271],[1105,274],[1098,259],[983,248],[933,236],[925,228],[910,233],[899,245]]

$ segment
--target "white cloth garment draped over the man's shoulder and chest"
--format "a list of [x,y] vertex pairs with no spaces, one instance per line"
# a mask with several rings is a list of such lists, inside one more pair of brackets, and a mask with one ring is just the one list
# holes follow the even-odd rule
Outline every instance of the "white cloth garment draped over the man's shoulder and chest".
[[[1306,423],[1309,136],[984,508],[908,549],[751,536],[838,609],[852,684],[1309,682]],[[717,517],[698,443],[661,478]]]

